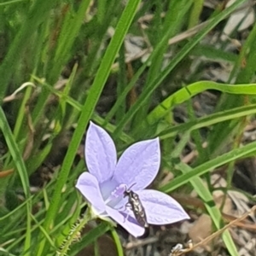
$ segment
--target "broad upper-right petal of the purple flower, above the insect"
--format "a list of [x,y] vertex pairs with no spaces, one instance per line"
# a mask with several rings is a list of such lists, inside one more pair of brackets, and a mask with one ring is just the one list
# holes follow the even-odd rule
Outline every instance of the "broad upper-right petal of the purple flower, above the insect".
[[114,178],[132,189],[146,188],[160,167],[159,138],[135,143],[127,148],[119,159]]

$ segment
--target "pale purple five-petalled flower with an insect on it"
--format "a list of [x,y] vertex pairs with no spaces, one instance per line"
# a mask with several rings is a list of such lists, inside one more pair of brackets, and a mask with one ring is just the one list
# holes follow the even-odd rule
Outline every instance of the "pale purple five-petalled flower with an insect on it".
[[155,138],[131,145],[117,161],[116,148],[108,133],[90,122],[85,142],[89,172],[80,175],[76,188],[99,218],[110,217],[133,236],[145,229],[126,207],[125,189],[132,186],[144,207],[148,224],[172,224],[189,218],[177,201],[160,191],[145,189],[160,167],[160,143]]

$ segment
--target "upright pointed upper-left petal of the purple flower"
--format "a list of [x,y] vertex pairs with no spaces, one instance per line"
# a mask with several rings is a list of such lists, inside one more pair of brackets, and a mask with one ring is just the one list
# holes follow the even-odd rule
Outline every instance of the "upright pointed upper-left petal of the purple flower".
[[90,122],[84,154],[89,172],[99,183],[113,176],[117,155],[112,138],[100,126]]

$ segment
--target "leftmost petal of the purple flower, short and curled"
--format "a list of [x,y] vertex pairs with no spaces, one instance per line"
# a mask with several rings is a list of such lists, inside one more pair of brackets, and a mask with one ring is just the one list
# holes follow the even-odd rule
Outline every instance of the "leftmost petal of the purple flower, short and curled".
[[106,211],[105,203],[102,199],[101,190],[96,177],[91,175],[89,172],[83,172],[79,176],[76,188],[79,189],[85,199],[90,202],[92,207],[96,210],[97,215],[101,215]]

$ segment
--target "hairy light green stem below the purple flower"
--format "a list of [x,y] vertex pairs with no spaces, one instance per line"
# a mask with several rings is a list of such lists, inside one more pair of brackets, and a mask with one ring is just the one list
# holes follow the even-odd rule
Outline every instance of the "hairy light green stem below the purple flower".
[[79,218],[78,222],[73,226],[67,235],[67,239],[61,245],[60,251],[57,252],[58,256],[67,255],[69,247],[74,241],[78,241],[80,238],[80,231],[84,228],[84,225],[91,219],[90,208],[84,214],[84,218]]

